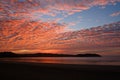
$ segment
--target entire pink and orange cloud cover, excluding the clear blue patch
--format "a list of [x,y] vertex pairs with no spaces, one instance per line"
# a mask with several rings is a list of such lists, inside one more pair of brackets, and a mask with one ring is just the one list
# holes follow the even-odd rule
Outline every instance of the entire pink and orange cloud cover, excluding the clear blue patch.
[[[67,32],[66,24],[58,23],[68,15],[116,2],[120,0],[0,0],[0,51],[74,52],[120,47],[120,22]],[[44,15],[63,17],[43,22]]]

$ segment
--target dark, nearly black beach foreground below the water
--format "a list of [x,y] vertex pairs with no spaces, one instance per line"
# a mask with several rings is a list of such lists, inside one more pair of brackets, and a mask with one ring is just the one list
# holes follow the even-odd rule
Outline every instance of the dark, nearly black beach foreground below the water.
[[0,62],[0,80],[120,80],[120,66]]

